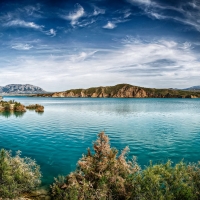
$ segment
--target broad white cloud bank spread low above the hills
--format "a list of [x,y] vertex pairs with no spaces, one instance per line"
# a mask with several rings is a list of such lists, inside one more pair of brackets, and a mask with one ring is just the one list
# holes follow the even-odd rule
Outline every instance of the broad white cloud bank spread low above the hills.
[[[183,46],[187,49],[181,48]],[[83,48],[77,54],[66,54],[66,50],[45,46],[38,49],[43,55],[40,58],[9,57],[8,62],[2,62],[5,57],[0,58],[0,67],[4,66],[0,85],[12,80],[39,85],[47,91],[124,82],[146,87],[185,88],[197,85],[200,76],[200,55],[189,46],[167,39],[143,42],[131,36],[123,40],[120,49],[113,50]],[[50,53],[55,55],[49,56]]]

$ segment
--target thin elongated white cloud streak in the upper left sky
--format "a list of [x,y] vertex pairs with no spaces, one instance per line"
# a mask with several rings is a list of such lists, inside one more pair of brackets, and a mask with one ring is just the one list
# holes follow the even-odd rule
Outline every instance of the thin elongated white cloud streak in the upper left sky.
[[38,29],[41,30],[44,26],[42,25],[37,25],[34,22],[26,22],[24,20],[12,20],[4,24],[4,26],[20,26],[20,27],[25,27],[25,28],[32,28],[32,29]]

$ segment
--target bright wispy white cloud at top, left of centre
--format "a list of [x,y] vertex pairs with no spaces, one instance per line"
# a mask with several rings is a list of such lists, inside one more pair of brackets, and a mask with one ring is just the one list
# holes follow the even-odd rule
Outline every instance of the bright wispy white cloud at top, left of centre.
[[74,26],[78,22],[78,20],[83,17],[85,14],[84,8],[80,4],[75,5],[75,9],[73,12],[70,12],[68,16],[65,16],[65,19],[71,21],[71,25]]

